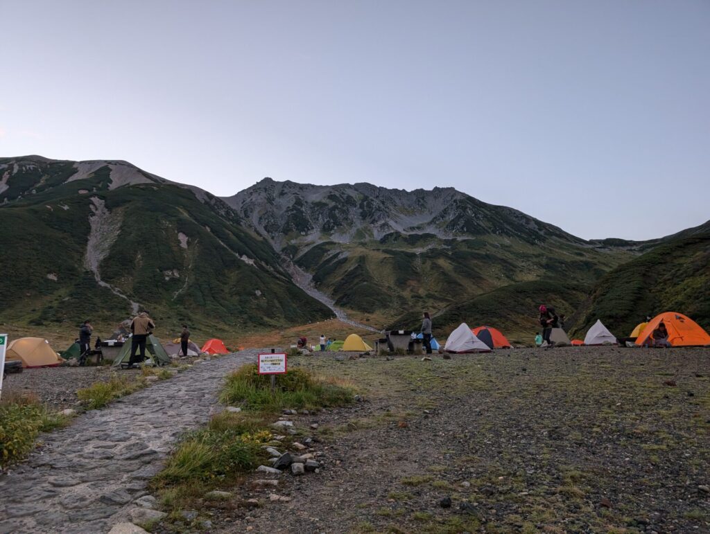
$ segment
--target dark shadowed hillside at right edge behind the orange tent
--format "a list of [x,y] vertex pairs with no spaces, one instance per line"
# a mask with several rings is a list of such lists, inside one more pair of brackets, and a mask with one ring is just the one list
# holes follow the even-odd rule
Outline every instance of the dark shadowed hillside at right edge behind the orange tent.
[[596,284],[575,314],[574,333],[597,319],[619,337],[645,316],[678,311],[710,330],[710,221],[660,240]]

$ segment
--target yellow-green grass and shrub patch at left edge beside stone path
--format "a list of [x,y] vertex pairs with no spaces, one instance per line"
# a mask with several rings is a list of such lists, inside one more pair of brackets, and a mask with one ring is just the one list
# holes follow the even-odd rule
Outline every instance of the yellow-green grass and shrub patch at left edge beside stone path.
[[69,424],[70,418],[48,411],[34,395],[6,395],[0,404],[0,466],[25,457],[40,432]]

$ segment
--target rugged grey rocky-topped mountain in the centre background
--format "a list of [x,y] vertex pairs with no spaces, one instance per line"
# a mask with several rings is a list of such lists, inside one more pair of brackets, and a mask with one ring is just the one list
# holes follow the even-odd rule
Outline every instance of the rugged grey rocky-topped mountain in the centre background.
[[224,200],[335,304],[389,318],[537,279],[591,284],[636,246],[587,242],[452,188],[263,179]]

